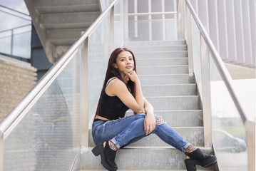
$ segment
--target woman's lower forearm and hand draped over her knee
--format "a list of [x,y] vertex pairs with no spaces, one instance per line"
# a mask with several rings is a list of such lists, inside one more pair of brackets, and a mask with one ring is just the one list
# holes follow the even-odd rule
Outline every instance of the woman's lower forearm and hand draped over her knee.
[[145,109],[145,120],[144,120],[144,130],[146,130],[145,135],[152,133],[155,130],[155,115],[153,106],[143,98],[144,100],[144,109]]

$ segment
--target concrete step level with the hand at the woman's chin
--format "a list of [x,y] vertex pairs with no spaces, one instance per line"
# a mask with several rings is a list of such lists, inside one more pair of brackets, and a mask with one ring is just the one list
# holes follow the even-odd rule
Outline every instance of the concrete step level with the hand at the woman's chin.
[[138,75],[141,85],[195,83],[188,74]]

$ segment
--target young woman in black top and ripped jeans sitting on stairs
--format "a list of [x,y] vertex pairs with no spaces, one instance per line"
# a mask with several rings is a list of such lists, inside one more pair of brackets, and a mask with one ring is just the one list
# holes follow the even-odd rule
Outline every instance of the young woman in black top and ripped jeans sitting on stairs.
[[[129,108],[135,115],[124,118]],[[195,165],[208,167],[217,161],[214,155],[206,155],[193,147],[154,115],[153,106],[143,98],[133,52],[128,48],[116,48],[108,61],[93,121],[92,135],[97,146],[92,152],[96,156],[101,155],[101,164],[107,170],[118,170],[116,151],[151,133],[185,153],[187,170],[196,170]]]

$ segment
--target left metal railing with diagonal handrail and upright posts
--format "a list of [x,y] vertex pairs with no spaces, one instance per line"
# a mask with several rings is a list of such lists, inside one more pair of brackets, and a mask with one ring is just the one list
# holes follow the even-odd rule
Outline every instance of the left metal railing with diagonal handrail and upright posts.
[[[60,76],[64,68],[75,58],[78,54],[81,54],[81,146],[88,147],[88,38],[93,34],[94,31],[102,24],[103,19],[108,18],[108,24],[103,24],[103,26],[109,26],[108,34],[108,51],[113,51],[114,48],[114,6],[118,3],[118,0],[114,0],[108,8],[103,11],[103,13],[96,19],[96,21],[91,24],[91,26],[86,30],[81,38],[76,41],[71,48],[62,56],[62,58],[51,67],[51,69],[41,78],[41,80],[36,83],[34,88],[32,88],[29,93],[24,96],[21,102],[16,105],[16,107],[11,110],[11,113],[2,120],[0,123],[0,170],[4,170],[4,140],[9,137],[9,135],[16,129],[17,125],[21,123],[26,115],[29,113],[34,104],[41,98],[43,93],[48,90],[53,81]],[[121,10],[123,11],[123,9]],[[105,30],[106,31],[106,30]],[[75,67],[77,68],[77,67]],[[63,119],[63,118],[61,118]],[[66,117],[64,118],[66,120]],[[80,129],[79,129],[80,130]]]

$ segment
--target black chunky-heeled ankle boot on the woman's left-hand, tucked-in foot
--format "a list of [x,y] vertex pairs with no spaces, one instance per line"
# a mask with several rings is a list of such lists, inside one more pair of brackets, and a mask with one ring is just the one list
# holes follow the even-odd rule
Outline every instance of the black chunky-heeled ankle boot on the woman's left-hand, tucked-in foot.
[[112,150],[111,147],[109,147],[108,141],[106,142],[105,147],[103,147],[103,145],[101,144],[98,144],[91,151],[95,156],[101,155],[101,165],[103,165],[106,170],[118,170],[118,166],[115,162],[116,151]]

